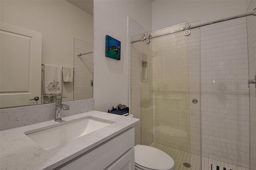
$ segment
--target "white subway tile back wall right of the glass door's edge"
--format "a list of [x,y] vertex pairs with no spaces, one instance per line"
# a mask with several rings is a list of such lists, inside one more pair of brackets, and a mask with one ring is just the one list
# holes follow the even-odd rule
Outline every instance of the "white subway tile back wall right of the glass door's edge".
[[202,156],[249,168],[246,18],[200,32]]

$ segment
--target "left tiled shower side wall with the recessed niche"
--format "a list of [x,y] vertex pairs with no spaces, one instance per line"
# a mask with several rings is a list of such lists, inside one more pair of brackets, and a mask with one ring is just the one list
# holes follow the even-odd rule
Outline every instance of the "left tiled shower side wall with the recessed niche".
[[[140,124],[135,127],[135,145],[150,145],[153,141],[152,131],[152,59],[150,57],[150,46],[140,42],[130,44],[130,41],[141,38],[145,33],[136,21],[128,17],[128,103],[130,113],[141,119]],[[137,35],[137,36],[135,36]],[[143,49],[142,49],[143,48]],[[148,82],[141,82],[142,59],[148,62]]]

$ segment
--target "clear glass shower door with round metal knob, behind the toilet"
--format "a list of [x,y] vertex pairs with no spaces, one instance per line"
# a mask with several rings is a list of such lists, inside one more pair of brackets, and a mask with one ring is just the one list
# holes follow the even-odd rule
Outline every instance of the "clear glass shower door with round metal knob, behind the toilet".
[[[186,23],[152,31],[150,36],[179,30]],[[132,40],[142,36],[149,35]],[[131,45],[140,58],[141,144],[169,154],[177,170],[184,168],[183,163],[200,169],[199,44],[197,29],[189,36],[179,32]]]

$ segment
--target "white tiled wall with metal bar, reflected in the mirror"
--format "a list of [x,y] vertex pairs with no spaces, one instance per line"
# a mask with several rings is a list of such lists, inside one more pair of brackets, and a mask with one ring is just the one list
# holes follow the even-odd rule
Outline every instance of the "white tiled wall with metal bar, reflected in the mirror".
[[93,54],[77,56],[92,49],[91,43],[74,38],[74,100],[93,98]]

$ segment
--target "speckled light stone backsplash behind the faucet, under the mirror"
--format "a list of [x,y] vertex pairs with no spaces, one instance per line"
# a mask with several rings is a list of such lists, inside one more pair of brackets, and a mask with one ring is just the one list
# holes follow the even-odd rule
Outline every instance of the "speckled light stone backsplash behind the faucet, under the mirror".
[[[94,110],[94,99],[62,102],[70,109],[62,110],[62,117]],[[55,103],[0,109],[0,131],[53,120]]]

